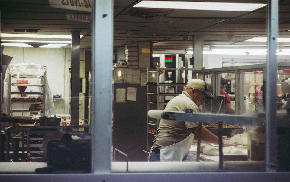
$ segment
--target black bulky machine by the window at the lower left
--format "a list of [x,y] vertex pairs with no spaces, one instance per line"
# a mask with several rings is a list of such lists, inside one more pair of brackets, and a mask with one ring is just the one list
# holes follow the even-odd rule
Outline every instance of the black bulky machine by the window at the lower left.
[[[77,139],[72,139],[73,137]],[[47,143],[47,167],[38,168],[36,173],[90,173],[91,140],[89,133],[69,134],[58,131]],[[49,139],[48,139],[49,140]]]

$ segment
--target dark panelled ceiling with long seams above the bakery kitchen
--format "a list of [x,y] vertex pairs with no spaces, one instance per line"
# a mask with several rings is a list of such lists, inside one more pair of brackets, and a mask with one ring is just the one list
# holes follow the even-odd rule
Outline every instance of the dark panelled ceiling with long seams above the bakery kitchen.
[[[176,9],[164,17],[146,20],[127,14],[134,2],[138,1],[114,0],[114,47],[137,41],[152,41],[154,50],[191,49],[191,35],[204,35],[205,46],[265,44],[243,40],[266,36],[266,8],[253,12]],[[266,0],[234,2],[267,3]],[[12,30],[15,28],[40,29],[38,34],[70,35],[71,31],[81,31],[81,35],[88,34],[81,40],[81,48],[91,47],[91,24],[66,19],[66,13],[90,15],[88,12],[50,8],[48,0],[0,0],[0,10],[2,33],[17,33]],[[280,0],[279,36],[290,37],[289,29],[290,0]],[[182,35],[189,35],[189,40],[183,41]],[[234,41],[229,41],[228,35],[234,35]],[[289,42],[279,44],[290,45]]]

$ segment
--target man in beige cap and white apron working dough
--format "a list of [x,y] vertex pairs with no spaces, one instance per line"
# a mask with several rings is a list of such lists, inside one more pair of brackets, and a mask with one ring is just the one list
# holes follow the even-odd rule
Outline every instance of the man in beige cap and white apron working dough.
[[[188,81],[182,94],[171,99],[165,111],[185,111],[192,109],[199,112],[198,106],[205,99],[213,99],[214,96],[208,92],[206,83],[201,79]],[[178,122],[174,120],[161,119],[156,133],[154,144],[151,147],[149,161],[182,161],[188,160],[189,148],[193,139],[198,136],[197,122]],[[202,127],[201,140],[218,143],[218,137]],[[238,145],[224,141],[224,146]]]

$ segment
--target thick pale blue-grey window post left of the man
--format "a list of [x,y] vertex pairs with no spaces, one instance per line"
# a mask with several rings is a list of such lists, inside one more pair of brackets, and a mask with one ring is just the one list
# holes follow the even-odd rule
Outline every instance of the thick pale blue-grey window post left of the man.
[[92,172],[112,162],[113,1],[92,1]]

